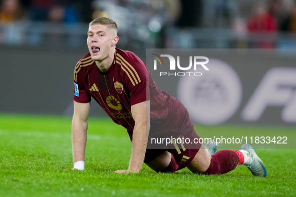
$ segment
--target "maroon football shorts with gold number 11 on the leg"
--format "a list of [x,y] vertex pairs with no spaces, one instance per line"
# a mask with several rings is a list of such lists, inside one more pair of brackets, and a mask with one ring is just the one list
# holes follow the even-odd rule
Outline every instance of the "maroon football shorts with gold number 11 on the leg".
[[169,151],[178,165],[187,165],[202,144],[199,138],[187,109],[172,97],[168,116],[158,122],[151,121],[144,162],[149,163],[164,151]]

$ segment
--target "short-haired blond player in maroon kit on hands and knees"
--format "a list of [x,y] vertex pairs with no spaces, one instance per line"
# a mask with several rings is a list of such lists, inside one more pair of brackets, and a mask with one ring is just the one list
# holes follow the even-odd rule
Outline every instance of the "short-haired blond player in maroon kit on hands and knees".
[[[96,18],[87,33],[89,53],[75,66],[74,115],[72,121],[73,169],[84,169],[91,98],[111,119],[127,129],[132,141],[128,169],[139,172],[143,162],[155,171],[174,172],[188,167],[194,173],[222,174],[245,164],[254,175],[266,176],[264,163],[252,146],[242,150],[219,150],[210,155],[201,143],[152,143],[148,138],[198,139],[185,106],[157,88],[145,63],[131,51],[116,48],[117,24]],[[214,149],[215,144],[206,144]]]

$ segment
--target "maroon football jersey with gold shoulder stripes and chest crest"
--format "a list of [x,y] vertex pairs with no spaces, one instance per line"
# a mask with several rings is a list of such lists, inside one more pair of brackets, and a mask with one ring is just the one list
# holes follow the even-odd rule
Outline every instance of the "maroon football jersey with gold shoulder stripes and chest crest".
[[129,134],[134,129],[131,106],[150,99],[150,120],[168,114],[170,95],[155,85],[145,63],[133,52],[116,48],[112,65],[101,72],[90,53],[78,61],[74,71],[74,100],[81,103],[93,97]]

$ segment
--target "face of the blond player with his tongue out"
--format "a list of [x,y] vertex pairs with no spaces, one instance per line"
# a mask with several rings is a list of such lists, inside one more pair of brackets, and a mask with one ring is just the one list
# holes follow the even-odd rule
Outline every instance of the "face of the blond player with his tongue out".
[[87,36],[87,45],[91,57],[95,61],[103,61],[109,55],[114,55],[111,50],[117,43],[117,35],[106,25],[93,24],[89,27]]

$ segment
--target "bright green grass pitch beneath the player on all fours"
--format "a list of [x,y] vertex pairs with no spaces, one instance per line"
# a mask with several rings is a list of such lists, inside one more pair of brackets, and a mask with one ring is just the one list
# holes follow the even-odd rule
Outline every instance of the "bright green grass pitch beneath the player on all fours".
[[[263,126],[196,126],[205,133],[253,130]],[[279,129],[279,128],[277,128]],[[295,129],[280,127],[292,133]],[[221,134],[220,134],[221,135]],[[237,147],[239,148],[239,147]],[[222,175],[198,175],[188,169],[156,173],[143,165],[140,173],[117,174],[129,163],[131,142],[121,126],[90,118],[86,169],[73,167],[71,117],[0,114],[0,196],[295,196],[295,149],[257,149],[267,177],[255,177],[245,166]]]

